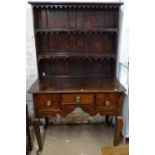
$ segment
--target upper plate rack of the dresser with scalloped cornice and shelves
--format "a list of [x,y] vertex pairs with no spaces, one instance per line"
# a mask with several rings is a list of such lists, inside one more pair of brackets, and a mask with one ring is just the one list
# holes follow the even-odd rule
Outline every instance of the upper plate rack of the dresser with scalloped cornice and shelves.
[[39,79],[115,77],[122,3],[30,4]]

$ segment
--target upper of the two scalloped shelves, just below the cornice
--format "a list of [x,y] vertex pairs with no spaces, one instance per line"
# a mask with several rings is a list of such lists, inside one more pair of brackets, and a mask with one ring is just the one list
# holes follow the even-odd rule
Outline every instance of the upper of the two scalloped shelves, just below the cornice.
[[102,28],[102,29],[35,29],[35,33],[73,33],[73,34],[96,34],[96,33],[105,33],[105,32],[111,32],[111,33],[117,33],[118,29],[117,28]]

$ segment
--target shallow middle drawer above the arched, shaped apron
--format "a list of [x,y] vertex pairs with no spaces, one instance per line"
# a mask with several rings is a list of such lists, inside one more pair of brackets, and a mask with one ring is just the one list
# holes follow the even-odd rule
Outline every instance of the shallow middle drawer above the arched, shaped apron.
[[62,104],[94,104],[93,94],[65,94],[62,95]]

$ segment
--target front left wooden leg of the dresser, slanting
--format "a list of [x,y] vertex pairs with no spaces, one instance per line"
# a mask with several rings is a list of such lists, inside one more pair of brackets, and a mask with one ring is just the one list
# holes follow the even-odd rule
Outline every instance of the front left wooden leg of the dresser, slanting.
[[41,133],[40,133],[40,127],[39,127],[39,119],[35,119],[33,121],[33,126],[34,126],[34,131],[35,131],[35,135],[36,135],[36,139],[38,142],[38,146],[39,146],[39,150],[42,150],[42,141],[41,141]]

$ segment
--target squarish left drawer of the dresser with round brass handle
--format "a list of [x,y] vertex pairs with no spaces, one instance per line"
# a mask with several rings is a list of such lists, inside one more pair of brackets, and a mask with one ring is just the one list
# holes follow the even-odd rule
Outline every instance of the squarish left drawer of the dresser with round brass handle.
[[57,111],[60,109],[60,95],[37,94],[35,106],[37,110]]

